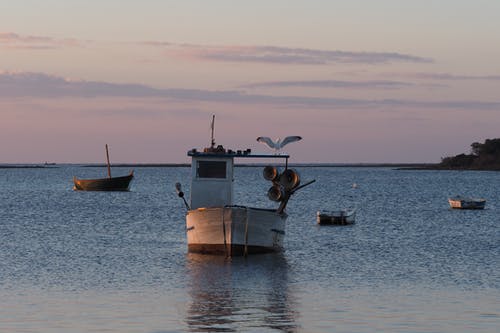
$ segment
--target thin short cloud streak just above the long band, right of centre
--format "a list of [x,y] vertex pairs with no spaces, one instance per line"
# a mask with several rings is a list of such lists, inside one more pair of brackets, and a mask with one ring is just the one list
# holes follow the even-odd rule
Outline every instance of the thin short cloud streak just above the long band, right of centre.
[[305,81],[271,81],[242,85],[241,88],[349,88],[349,89],[399,89],[412,87],[413,83],[389,80],[340,81],[340,80],[305,80]]

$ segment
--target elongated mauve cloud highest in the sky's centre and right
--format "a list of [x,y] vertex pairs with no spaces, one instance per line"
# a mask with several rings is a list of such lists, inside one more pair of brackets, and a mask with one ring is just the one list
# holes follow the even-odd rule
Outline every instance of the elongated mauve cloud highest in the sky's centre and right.
[[332,63],[431,63],[433,59],[397,52],[352,52],[279,46],[209,46],[169,42],[143,42],[167,48],[171,54],[206,61],[326,65]]

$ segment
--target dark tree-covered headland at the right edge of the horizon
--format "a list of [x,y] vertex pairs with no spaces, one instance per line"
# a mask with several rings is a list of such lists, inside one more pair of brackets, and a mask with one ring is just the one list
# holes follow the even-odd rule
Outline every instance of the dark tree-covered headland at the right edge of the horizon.
[[470,154],[444,157],[437,165],[448,170],[500,170],[500,138],[471,144]]

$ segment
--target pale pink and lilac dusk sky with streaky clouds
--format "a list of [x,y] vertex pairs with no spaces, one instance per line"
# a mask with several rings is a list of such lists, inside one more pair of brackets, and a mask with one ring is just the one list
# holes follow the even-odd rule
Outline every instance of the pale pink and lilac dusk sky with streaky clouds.
[[0,0],[0,163],[418,163],[500,137],[500,1]]

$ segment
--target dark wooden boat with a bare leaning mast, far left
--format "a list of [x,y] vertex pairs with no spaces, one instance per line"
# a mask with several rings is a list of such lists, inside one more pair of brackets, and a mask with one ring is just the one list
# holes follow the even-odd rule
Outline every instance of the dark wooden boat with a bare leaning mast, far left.
[[78,179],[73,177],[73,190],[75,191],[128,191],[130,182],[134,178],[134,170],[127,176],[111,177],[111,166],[109,164],[108,145],[106,145],[106,158],[108,162],[108,178]]

